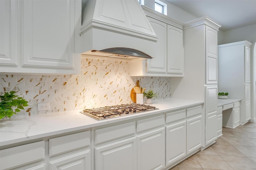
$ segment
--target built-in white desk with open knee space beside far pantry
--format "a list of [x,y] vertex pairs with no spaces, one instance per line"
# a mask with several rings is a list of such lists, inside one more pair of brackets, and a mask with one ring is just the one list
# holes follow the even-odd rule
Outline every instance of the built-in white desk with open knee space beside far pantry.
[[[218,136],[222,135],[222,127],[235,128],[240,125],[240,101],[241,99],[218,99]],[[221,117],[222,121],[219,119]]]

